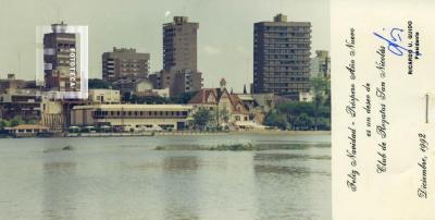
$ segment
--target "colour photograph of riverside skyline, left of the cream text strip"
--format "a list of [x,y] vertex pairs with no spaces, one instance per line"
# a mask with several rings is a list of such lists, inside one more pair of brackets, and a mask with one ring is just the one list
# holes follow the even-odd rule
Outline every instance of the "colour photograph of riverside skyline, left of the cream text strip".
[[0,0],[0,219],[331,220],[328,0]]

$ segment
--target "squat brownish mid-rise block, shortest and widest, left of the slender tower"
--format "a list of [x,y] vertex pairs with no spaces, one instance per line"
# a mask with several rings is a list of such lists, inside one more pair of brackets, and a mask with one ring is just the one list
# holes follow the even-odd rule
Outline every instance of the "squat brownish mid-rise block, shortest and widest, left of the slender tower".
[[113,48],[102,53],[102,77],[109,82],[121,78],[145,78],[149,72],[149,53],[136,52],[136,49]]

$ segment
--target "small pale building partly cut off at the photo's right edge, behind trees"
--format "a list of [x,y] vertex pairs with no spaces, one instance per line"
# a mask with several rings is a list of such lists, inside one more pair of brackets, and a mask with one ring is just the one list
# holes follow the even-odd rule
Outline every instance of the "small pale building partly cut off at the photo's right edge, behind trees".
[[311,77],[331,77],[331,57],[327,50],[316,50],[315,57],[311,58]]

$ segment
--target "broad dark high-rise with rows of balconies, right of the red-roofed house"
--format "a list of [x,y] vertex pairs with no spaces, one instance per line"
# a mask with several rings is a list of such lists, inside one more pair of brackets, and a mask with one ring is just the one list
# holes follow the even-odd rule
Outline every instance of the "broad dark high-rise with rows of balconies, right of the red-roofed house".
[[311,24],[287,22],[277,14],[273,22],[253,25],[253,93],[298,97],[310,89]]

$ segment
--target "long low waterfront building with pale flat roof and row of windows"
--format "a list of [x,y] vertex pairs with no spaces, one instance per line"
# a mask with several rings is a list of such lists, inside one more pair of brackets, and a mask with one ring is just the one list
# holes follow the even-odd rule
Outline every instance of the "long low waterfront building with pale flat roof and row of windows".
[[191,112],[183,105],[90,105],[76,106],[71,112],[71,125],[110,125],[114,129],[184,130]]

